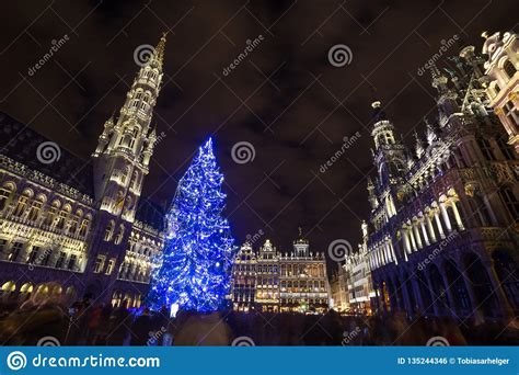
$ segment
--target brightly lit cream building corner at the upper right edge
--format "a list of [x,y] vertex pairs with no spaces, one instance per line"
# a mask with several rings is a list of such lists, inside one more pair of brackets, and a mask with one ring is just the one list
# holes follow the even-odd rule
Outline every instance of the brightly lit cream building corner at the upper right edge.
[[519,152],[519,39],[518,34],[495,33],[486,37],[483,54],[488,56],[485,73],[489,106],[508,133],[508,144]]

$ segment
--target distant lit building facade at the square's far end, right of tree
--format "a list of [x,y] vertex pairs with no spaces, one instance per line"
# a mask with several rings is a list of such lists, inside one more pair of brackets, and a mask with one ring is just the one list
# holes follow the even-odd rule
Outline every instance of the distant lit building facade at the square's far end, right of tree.
[[232,274],[235,310],[322,312],[328,308],[324,254],[310,252],[309,241],[301,235],[289,253],[278,251],[269,240],[257,252],[244,243]]

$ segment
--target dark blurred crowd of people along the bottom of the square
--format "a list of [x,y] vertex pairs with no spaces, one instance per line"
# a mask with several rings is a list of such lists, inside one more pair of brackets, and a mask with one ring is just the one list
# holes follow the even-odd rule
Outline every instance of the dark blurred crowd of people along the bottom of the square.
[[51,338],[60,345],[515,345],[519,330],[515,322],[470,321],[402,314],[343,316],[299,312],[214,314],[169,309],[150,311],[96,304],[91,297],[66,306],[59,295],[33,294],[20,303],[3,299],[0,305],[0,344],[38,345]]

